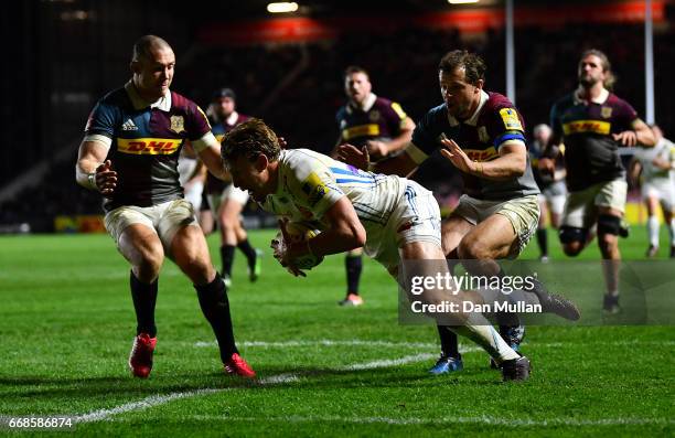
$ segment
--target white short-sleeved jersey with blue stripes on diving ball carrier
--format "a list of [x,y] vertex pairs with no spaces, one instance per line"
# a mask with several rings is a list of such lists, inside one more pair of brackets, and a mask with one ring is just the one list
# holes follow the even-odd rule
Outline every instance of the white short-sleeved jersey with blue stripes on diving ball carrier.
[[309,149],[282,150],[279,185],[262,210],[325,229],[323,216],[347,196],[365,226],[385,226],[405,192],[403,179],[358,170]]

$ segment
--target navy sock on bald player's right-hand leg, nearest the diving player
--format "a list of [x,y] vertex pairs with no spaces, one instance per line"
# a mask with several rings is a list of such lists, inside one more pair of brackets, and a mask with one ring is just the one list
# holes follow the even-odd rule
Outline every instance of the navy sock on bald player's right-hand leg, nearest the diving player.
[[213,281],[207,285],[194,285],[200,299],[200,307],[206,320],[211,323],[213,332],[221,349],[223,363],[229,360],[234,353],[238,353],[232,329],[232,316],[229,314],[229,301],[223,278],[216,274]]

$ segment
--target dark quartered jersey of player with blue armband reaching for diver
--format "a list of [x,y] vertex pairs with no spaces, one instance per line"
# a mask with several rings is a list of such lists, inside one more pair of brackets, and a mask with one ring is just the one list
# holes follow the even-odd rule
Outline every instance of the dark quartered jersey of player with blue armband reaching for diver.
[[[514,105],[501,94],[482,93],[476,113],[460,121],[448,114],[446,104],[431,108],[413,132],[413,143],[430,156],[442,145],[442,137],[453,139],[473,161],[491,161],[500,157],[499,148],[508,140],[525,141],[525,122]],[[506,201],[538,194],[529,157],[522,177],[493,181],[462,172],[464,193],[489,201]]]

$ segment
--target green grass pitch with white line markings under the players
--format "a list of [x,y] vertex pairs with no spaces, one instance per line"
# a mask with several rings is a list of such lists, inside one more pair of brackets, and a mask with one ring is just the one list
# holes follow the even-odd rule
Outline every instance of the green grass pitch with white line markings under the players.
[[[260,247],[271,235],[250,233]],[[217,237],[208,241],[217,266]],[[549,245],[564,258],[553,231]],[[641,258],[644,229],[621,245]],[[128,267],[110,238],[0,237],[0,416],[78,416],[84,436],[675,434],[672,327],[532,327],[528,382],[501,383],[467,342],[465,370],[436,377],[436,329],[397,323],[396,286],[378,265],[364,265],[365,306],[340,308],[343,257],[297,279],[266,253],[256,284],[237,254],[229,292],[258,381],[222,373],[194,289],[171,263],[159,282],[154,370],[140,381],[126,364]],[[536,256],[533,242],[523,257]],[[594,244],[582,257],[599,257]]]

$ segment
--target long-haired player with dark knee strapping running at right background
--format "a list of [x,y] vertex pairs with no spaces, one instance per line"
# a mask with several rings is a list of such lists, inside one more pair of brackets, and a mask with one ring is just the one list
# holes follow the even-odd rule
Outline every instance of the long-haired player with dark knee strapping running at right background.
[[567,202],[560,225],[560,243],[568,256],[588,245],[590,228],[598,225],[598,246],[603,263],[607,292],[603,309],[617,313],[619,307],[619,235],[625,212],[625,170],[619,147],[654,146],[654,135],[633,107],[611,93],[614,84],[610,62],[599,50],[581,54],[579,86],[558,100],[550,111],[553,135],[539,160],[539,168],[555,172],[554,159],[565,143]]

